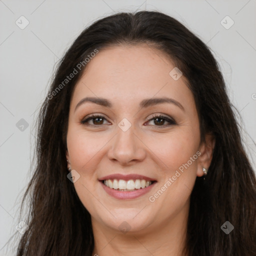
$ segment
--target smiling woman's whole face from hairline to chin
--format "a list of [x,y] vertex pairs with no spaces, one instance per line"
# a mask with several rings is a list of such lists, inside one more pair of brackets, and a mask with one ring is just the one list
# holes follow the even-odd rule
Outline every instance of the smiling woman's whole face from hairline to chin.
[[187,216],[196,175],[208,166],[193,95],[174,67],[146,45],[112,46],[77,82],[66,156],[92,223],[148,232]]

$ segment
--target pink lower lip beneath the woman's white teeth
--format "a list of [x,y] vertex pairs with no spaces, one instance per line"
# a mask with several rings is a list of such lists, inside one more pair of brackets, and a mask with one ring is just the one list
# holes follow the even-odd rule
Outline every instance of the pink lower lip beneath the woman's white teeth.
[[113,188],[110,188],[102,183],[102,181],[99,181],[103,187],[103,189],[111,196],[117,199],[135,199],[138,198],[139,196],[147,193],[156,183],[152,183],[151,185],[145,187],[145,188],[139,188],[134,191],[118,191]]

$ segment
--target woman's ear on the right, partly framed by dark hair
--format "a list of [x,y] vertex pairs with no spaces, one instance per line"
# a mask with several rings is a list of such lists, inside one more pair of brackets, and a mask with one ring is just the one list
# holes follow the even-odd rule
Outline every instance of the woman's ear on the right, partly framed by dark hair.
[[201,153],[198,156],[198,164],[197,164],[197,172],[196,175],[198,177],[202,176],[204,173],[202,171],[202,168],[208,169],[211,163],[213,149],[215,146],[215,137],[207,133],[205,135],[205,142],[202,142],[199,146],[199,152]]

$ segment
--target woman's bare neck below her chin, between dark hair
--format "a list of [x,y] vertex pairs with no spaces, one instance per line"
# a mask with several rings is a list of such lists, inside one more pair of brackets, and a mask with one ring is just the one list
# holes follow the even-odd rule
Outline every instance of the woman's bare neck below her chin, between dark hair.
[[[187,207],[187,206],[185,206]],[[160,216],[159,216],[160,217]],[[94,236],[93,256],[117,255],[170,255],[184,256],[188,208],[181,210],[174,218],[157,223],[155,228],[122,233],[100,225],[92,218]]]

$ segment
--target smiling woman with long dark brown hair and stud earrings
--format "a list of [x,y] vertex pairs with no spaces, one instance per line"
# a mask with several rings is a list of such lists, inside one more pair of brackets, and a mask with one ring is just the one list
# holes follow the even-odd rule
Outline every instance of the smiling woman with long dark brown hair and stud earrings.
[[42,105],[17,255],[256,255],[255,185],[206,45],[160,12],[111,15]]

